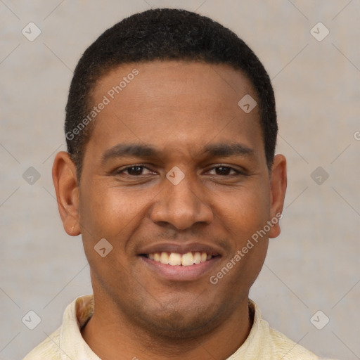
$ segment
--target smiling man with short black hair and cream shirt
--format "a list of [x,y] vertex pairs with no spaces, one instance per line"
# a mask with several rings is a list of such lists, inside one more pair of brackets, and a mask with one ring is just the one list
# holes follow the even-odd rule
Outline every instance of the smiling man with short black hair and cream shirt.
[[53,163],[93,295],[25,359],[319,359],[248,298],[280,233],[286,162],[259,59],[195,13],[131,15],[75,69]]

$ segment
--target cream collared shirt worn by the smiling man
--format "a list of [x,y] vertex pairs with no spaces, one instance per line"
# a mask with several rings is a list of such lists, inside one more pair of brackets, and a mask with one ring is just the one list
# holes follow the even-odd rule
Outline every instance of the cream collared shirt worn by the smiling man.
[[[254,323],[243,345],[226,360],[320,360],[262,320],[259,308],[249,300]],[[23,360],[101,360],[86,344],[80,333],[94,312],[94,296],[77,297],[65,309],[63,325],[54,331]]]

